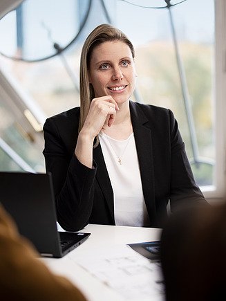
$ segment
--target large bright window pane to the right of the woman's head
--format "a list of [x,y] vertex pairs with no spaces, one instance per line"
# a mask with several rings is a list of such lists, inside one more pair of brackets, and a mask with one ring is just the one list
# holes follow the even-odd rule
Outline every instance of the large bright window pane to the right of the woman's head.
[[[174,1],[171,3],[178,3]],[[133,1],[138,4],[138,1]],[[165,6],[164,1],[139,1]],[[182,93],[169,9],[150,9],[117,1],[117,24],[135,44],[138,89],[142,102],[171,109],[199,185],[214,183],[214,1],[189,0],[170,8],[178,54],[185,72]],[[135,19],[134,26],[126,19]],[[192,21],[191,21],[192,20]],[[142,34],[141,34],[142,33]],[[191,116],[188,118],[189,107]],[[192,125],[194,131],[192,131]]]

